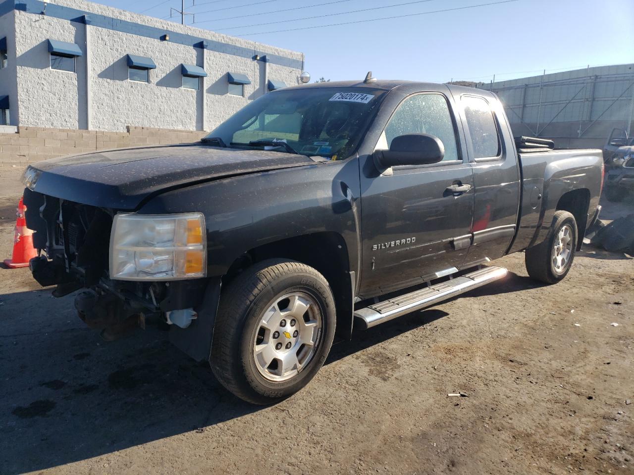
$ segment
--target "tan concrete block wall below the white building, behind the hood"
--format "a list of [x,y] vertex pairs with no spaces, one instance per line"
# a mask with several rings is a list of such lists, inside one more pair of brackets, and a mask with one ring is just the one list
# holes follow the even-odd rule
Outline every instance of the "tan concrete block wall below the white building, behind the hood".
[[18,127],[17,132],[0,129],[0,167],[25,167],[64,155],[101,149],[192,143],[206,132],[127,126],[126,132],[104,130]]

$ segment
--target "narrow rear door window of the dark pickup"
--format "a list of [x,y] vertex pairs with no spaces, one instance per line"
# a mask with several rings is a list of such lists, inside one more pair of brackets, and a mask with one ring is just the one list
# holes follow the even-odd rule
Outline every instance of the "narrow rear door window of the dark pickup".
[[500,155],[500,137],[489,103],[474,96],[463,96],[461,101],[465,108],[474,160]]

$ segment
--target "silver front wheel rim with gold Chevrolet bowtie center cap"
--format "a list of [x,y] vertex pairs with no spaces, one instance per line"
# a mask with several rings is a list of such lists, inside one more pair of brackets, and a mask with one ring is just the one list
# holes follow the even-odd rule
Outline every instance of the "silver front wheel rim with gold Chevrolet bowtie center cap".
[[306,368],[316,353],[323,319],[314,298],[287,293],[269,303],[253,341],[257,371],[269,381],[287,381]]

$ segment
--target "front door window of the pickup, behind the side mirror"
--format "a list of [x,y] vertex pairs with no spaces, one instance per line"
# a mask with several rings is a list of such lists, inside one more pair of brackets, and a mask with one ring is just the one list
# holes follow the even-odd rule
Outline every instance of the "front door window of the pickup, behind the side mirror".
[[443,142],[443,162],[460,160],[447,99],[441,94],[417,94],[401,103],[381,135],[377,149],[389,149],[394,137],[430,134]]

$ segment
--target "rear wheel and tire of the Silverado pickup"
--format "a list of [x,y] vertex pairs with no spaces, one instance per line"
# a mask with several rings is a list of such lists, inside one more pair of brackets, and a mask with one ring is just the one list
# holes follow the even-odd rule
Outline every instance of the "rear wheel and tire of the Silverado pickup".
[[[560,239],[564,228],[567,229],[567,231],[563,231],[564,237],[569,236],[567,241]],[[564,279],[573,265],[577,240],[578,231],[574,216],[567,211],[555,212],[550,232],[548,232],[545,241],[526,250],[524,258],[528,275],[547,284],[556,284]],[[557,257],[560,257],[561,260]]]

